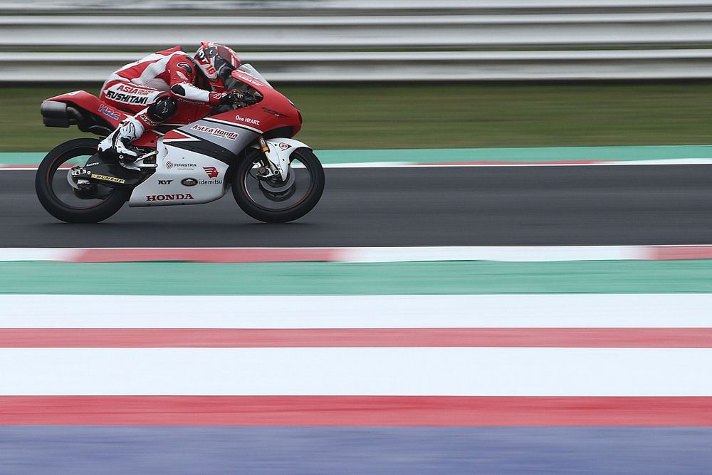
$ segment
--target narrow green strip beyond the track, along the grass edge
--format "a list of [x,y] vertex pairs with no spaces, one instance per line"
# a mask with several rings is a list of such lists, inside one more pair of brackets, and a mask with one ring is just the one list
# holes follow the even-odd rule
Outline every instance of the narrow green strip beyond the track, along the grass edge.
[[[366,162],[571,162],[712,158],[712,145],[640,147],[449,148],[404,150],[320,150],[324,164]],[[37,165],[45,154],[0,153],[0,165]]]

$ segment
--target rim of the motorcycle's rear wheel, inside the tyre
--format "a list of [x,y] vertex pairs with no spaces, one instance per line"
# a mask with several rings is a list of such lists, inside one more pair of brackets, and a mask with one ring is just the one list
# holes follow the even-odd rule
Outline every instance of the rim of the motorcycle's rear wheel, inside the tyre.
[[92,184],[88,192],[76,192],[69,184],[68,174],[73,166],[84,166],[96,152],[90,147],[75,148],[57,157],[46,174],[46,184],[51,197],[63,207],[83,210],[93,209],[108,199],[111,189]]

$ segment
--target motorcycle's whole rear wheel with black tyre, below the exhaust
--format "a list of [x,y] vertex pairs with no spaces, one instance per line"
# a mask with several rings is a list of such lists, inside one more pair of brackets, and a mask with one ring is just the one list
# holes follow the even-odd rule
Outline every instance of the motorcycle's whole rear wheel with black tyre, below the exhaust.
[[[35,191],[42,207],[49,214],[68,223],[98,223],[115,214],[131,196],[131,189],[115,188],[98,204],[88,207],[73,207],[57,197],[53,189],[53,179],[58,168],[75,157],[91,156],[96,153],[99,140],[73,139],[54,147],[42,160],[35,175]],[[59,173],[68,173],[64,169]],[[67,186],[69,186],[67,184]]]

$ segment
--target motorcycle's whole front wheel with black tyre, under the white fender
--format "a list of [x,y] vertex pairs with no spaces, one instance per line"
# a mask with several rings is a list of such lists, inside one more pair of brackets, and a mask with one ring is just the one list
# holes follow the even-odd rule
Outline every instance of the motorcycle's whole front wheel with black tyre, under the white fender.
[[266,223],[286,223],[304,216],[324,192],[324,169],[314,152],[298,148],[289,157],[286,180],[258,177],[261,152],[251,150],[235,169],[232,193],[240,208]]

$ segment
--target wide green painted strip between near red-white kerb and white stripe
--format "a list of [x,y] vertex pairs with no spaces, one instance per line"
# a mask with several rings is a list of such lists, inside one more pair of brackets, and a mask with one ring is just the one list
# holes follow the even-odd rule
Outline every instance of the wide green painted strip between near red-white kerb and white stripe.
[[5,262],[0,263],[0,293],[712,293],[712,260],[240,264]]

